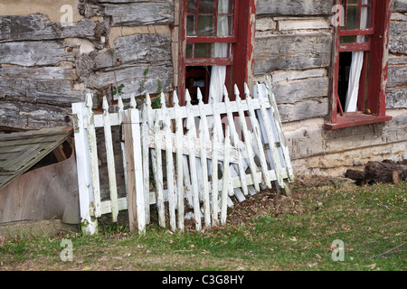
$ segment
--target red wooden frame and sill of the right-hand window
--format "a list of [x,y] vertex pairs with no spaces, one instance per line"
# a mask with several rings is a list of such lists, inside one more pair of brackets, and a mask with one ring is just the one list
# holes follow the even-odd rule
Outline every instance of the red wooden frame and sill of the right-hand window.
[[[336,5],[345,9],[345,27],[347,22],[345,0],[336,0]],[[334,27],[334,70],[331,78],[331,110],[330,123],[325,124],[327,129],[337,129],[349,126],[361,126],[392,120],[385,115],[385,95],[387,83],[388,58],[385,51],[389,45],[389,27],[391,15],[391,0],[372,0],[369,6],[372,10],[372,24],[367,29],[342,30],[341,26]],[[359,5],[359,16],[362,5]],[[341,43],[341,37],[368,35],[367,42]],[[357,112],[344,113],[338,95],[339,55],[345,51],[369,51],[364,53],[364,67],[359,85]],[[369,69],[367,69],[369,67]],[[366,70],[369,70],[366,76]],[[367,85],[366,85],[367,81]],[[365,91],[367,89],[367,91]],[[364,96],[367,92],[367,107],[364,107]],[[366,109],[368,108],[368,110]],[[366,109],[366,111],[364,110]],[[364,112],[369,112],[369,114]]]

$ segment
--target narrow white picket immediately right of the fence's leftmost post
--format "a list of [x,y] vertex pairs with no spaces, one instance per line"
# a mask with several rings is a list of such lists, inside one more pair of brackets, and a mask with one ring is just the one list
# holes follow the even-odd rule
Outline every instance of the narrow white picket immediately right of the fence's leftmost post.
[[96,132],[95,125],[93,122],[93,112],[92,112],[92,96],[90,93],[86,95],[85,105],[88,108],[87,115],[87,131],[88,131],[88,142],[90,150],[90,176],[92,178],[92,188],[93,188],[93,205],[95,210],[95,217],[99,218],[100,213],[100,184],[99,184],[99,164],[98,164],[98,151],[96,144]]

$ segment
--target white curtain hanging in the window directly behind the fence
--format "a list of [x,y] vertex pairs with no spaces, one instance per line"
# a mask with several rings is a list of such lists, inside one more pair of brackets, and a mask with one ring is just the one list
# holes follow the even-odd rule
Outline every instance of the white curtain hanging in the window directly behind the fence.
[[[218,13],[225,13],[229,11],[229,0],[219,0]],[[218,36],[227,36],[229,33],[229,23],[227,17],[218,17]],[[214,43],[213,44],[213,57],[227,57],[228,56],[228,43]],[[214,94],[216,101],[221,102],[223,98],[223,88],[226,79],[226,66],[212,67],[211,82],[209,84],[209,91]],[[212,99],[208,99],[212,103]]]

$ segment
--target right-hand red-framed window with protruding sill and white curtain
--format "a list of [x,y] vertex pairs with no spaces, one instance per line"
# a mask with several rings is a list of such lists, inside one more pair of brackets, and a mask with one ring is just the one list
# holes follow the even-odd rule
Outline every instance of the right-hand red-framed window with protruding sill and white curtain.
[[332,109],[328,129],[391,120],[385,116],[390,0],[338,0]]

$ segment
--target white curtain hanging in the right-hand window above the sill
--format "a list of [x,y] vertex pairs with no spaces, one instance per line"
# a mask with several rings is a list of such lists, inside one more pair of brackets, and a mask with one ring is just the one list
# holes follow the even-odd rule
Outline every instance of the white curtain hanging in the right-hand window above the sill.
[[[362,0],[362,4],[368,4],[369,0]],[[360,29],[365,29],[367,26],[367,7],[362,7],[360,17]],[[364,42],[365,36],[356,36],[356,42]],[[345,112],[357,111],[357,99],[359,95],[359,82],[364,66],[364,51],[352,52],[352,63],[349,72],[349,83],[345,99]]]

